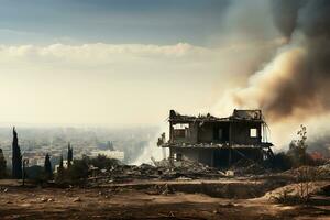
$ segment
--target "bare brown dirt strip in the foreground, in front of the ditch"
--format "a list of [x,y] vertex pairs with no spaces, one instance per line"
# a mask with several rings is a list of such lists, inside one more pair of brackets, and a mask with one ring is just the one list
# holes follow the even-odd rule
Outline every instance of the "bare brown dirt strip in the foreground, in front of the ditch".
[[[327,201],[327,198],[321,198]],[[330,199],[329,199],[330,201]],[[282,206],[264,197],[157,194],[147,187],[38,188],[0,182],[0,219],[330,219],[330,202]]]

